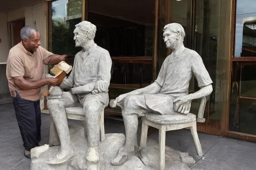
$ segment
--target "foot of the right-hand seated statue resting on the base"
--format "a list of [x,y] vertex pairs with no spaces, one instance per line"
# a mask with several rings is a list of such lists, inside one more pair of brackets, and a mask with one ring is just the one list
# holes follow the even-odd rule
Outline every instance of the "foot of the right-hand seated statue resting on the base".
[[111,165],[112,166],[122,165],[128,160],[128,158],[130,156],[132,156],[134,154],[135,154],[134,150],[127,151],[127,150],[125,150],[125,147],[121,147],[118,150],[117,156],[111,161]]

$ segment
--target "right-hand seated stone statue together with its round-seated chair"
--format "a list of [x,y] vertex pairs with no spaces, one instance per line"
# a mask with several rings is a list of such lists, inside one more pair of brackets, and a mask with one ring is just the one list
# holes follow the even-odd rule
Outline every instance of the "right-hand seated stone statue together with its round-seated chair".
[[[165,166],[165,133],[169,130],[190,128],[197,149],[198,156],[202,157],[202,148],[196,130],[196,116],[189,113],[191,101],[202,98],[198,113],[198,122],[204,122],[203,111],[206,96],[212,92],[212,80],[206,70],[200,55],[191,49],[185,48],[183,41],[185,32],[180,24],[172,23],[164,27],[164,42],[172,53],[164,60],[157,79],[147,87],[131,91],[110,101],[111,107],[121,107],[126,130],[125,145],[119,149],[112,165],[122,165],[128,157],[136,152],[136,132],[138,117],[146,119],[142,123],[141,147],[146,147],[148,127],[159,129],[159,159],[155,169],[163,170]],[[189,82],[195,76],[200,90],[189,94]],[[150,158],[149,158],[150,159]],[[157,168],[158,167],[158,168]],[[182,167],[176,167],[177,170]]]

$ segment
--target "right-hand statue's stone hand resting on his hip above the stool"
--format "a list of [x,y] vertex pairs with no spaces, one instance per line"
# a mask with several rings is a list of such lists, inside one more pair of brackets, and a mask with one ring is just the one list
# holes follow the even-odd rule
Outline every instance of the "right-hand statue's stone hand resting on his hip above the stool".
[[188,107],[189,107],[190,100],[191,100],[190,95],[176,98],[173,101],[174,111],[180,112],[183,114],[188,114],[189,112]]

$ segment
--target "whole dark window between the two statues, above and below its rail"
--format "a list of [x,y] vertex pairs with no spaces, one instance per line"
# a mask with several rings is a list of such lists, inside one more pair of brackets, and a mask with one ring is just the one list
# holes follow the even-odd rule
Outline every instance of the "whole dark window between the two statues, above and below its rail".
[[[112,58],[110,99],[152,82],[154,2],[88,1],[88,21],[97,27],[94,41]],[[151,63],[144,63],[143,58]]]

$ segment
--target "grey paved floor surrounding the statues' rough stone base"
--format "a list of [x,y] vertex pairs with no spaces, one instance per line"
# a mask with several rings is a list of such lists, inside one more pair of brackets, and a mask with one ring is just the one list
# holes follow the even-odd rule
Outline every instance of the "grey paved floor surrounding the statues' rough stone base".
[[[50,118],[42,114],[40,144],[48,144]],[[69,121],[70,124],[81,124]],[[138,128],[138,140],[140,140]],[[123,121],[105,118],[105,133],[125,133]],[[196,157],[196,149],[190,130],[182,129],[166,133],[166,145],[188,152],[197,163],[191,170],[256,170],[256,143],[240,139],[198,133],[204,157]],[[158,140],[158,131],[149,135]],[[23,142],[12,104],[0,105],[0,170],[29,170],[30,159],[24,157]]]

